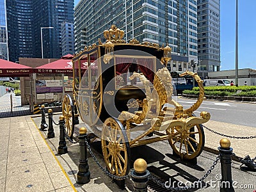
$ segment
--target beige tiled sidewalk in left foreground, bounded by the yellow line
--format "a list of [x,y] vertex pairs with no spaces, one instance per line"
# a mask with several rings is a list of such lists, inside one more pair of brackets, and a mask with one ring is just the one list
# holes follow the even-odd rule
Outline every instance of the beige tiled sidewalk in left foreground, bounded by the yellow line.
[[0,118],[0,191],[76,191],[29,116]]

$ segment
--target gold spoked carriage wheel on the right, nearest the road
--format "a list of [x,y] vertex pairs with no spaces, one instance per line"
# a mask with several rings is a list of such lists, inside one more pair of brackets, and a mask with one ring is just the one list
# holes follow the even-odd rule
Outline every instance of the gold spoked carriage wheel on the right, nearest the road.
[[172,135],[168,141],[173,152],[182,159],[195,159],[200,156],[204,149],[205,137],[201,124],[183,131],[180,127],[172,127],[167,129],[166,133]]

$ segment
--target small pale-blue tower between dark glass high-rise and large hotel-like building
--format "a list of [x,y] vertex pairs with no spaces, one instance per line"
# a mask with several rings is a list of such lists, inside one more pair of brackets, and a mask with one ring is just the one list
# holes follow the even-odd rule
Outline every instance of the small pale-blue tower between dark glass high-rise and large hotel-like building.
[[74,24],[70,22],[61,23],[61,47],[62,56],[66,54],[74,54]]

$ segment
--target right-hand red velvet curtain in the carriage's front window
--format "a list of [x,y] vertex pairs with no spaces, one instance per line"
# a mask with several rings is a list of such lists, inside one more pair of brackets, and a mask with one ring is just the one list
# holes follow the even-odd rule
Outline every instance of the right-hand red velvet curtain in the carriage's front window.
[[147,79],[154,83],[154,60],[152,58],[138,58],[139,68]]

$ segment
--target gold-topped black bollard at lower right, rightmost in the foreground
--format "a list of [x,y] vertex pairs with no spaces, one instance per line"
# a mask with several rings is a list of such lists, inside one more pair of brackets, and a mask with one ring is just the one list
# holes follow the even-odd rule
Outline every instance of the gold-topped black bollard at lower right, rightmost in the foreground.
[[218,150],[220,152],[221,163],[221,192],[234,192],[232,173],[231,173],[231,156],[233,154],[233,148],[230,147],[230,141],[226,138],[220,140],[220,146]]

